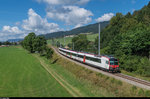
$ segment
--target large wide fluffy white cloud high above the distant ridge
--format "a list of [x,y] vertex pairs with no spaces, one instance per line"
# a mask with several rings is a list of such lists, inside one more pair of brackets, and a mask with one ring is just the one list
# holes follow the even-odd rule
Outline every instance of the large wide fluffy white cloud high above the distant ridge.
[[75,25],[75,27],[88,24],[92,21],[93,13],[78,6],[62,6],[59,8],[48,8],[47,17],[65,22],[67,25]]

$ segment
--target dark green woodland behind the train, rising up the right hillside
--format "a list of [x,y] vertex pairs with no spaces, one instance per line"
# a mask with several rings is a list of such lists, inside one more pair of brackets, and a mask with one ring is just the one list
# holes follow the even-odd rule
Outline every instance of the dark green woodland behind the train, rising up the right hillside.
[[[98,37],[92,42],[81,34],[68,46],[73,44],[74,50],[97,54]],[[117,13],[101,31],[101,49],[117,57],[121,69],[150,77],[150,2],[133,14]]]

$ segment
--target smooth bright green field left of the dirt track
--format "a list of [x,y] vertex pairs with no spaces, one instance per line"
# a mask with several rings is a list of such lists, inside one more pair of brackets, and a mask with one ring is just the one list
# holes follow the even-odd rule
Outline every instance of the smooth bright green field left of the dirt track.
[[0,48],[0,97],[71,97],[41,65],[21,47]]

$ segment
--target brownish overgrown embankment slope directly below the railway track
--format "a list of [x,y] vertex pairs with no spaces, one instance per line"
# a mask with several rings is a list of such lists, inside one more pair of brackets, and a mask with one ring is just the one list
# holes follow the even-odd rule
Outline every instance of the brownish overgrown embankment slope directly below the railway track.
[[53,64],[61,65],[81,82],[86,82],[92,86],[93,89],[91,89],[91,92],[101,90],[102,92],[109,92],[117,97],[150,97],[149,90],[117,80],[114,77],[106,76],[100,72],[90,70],[89,68],[82,67],[80,64],[63,57],[57,51],[55,51],[52,61]]

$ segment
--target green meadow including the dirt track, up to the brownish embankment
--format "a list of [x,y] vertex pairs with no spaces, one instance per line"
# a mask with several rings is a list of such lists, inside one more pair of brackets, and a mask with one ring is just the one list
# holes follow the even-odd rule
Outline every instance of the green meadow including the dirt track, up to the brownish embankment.
[[0,97],[106,97],[59,64],[22,47],[0,48]]

